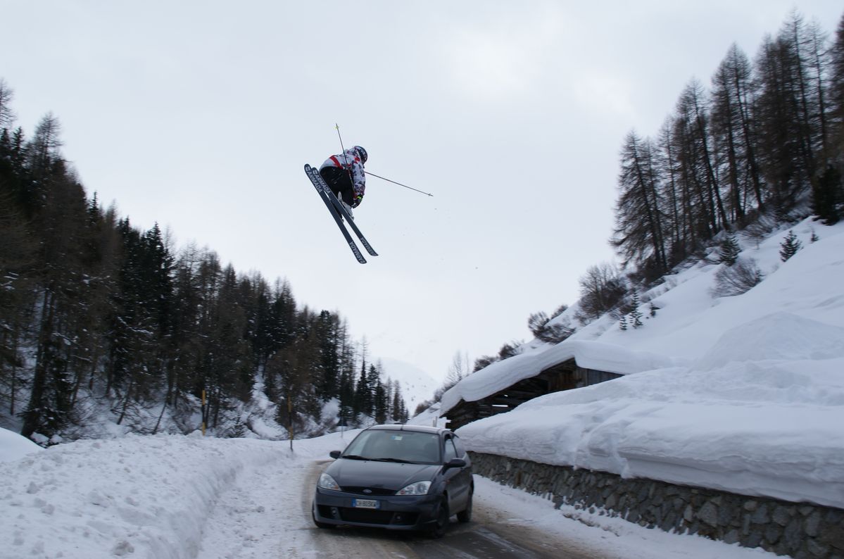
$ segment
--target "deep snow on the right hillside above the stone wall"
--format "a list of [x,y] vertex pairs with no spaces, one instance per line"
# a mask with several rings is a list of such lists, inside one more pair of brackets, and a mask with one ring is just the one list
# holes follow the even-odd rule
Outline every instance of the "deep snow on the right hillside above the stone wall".
[[603,317],[475,373],[443,408],[557,358],[595,368],[603,358],[606,370],[636,374],[534,399],[459,434],[479,452],[844,507],[844,224],[793,231],[803,250],[785,263],[785,231],[745,247],[766,279],[744,295],[713,298],[720,265],[698,264],[648,294],[659,310],[643,327]]

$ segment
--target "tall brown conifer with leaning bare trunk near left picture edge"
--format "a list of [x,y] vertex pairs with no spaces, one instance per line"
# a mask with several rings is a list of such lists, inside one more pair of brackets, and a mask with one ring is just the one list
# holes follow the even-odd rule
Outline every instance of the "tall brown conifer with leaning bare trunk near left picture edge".
[[41,120],[28,148],[26,164],[35,181],[30,206],[33,231],[40,249],[36,262],[41,269],[41,299],[35,339],[29,402],[24,410],[22,433],[35,431],[50,436],[62,431],[74,418],[73,368],[90,353],[89,286],[84,246],[89,238],[87,201],[58,149],[59,125],[48,115]]

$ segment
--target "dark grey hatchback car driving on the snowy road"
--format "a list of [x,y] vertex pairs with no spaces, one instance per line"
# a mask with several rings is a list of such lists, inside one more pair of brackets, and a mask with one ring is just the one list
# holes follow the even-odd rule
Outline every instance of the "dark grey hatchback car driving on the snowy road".
[[314,496],[320,528],[350,524],[440,537],[452,515],[472,518],[472,464],[448,429],[373,426],[331,457]]

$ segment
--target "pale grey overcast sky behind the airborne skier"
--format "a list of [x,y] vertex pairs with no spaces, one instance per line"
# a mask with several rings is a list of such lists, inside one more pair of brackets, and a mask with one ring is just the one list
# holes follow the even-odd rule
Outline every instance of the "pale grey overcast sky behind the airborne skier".
[[[611,261],[631,129],[652,136],[736,42],[840,0],[0,0],[0,78],[28,136],[46,112],[89,196],[239,272],[288,279],[371,358],[444,377],[530,339]],[[357,263],[302,171],[364,146]],[[389,373],[389,371],[387,371]]]

